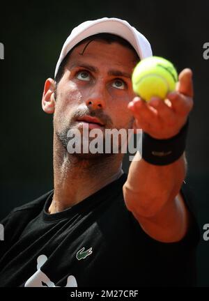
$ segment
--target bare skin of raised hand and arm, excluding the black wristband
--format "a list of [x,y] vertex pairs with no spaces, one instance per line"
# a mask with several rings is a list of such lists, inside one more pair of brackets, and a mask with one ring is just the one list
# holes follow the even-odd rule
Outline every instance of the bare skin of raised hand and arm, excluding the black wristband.
[[[169,93],[167,104],[158,98],[146,103],[134,98],[128,108],[135,126],[155,139],[170,139],[185,125],[193,105],[192,71],[179,75],[176,91]],[[139,157],[130,164],[123,194],[127,208],[142,229],[156,240],[176,242],[189,225],[189,212],[180,194],[186,174],[185,155],[167,165],[155,165]],[[137,157],[135,159],[137,159]]]

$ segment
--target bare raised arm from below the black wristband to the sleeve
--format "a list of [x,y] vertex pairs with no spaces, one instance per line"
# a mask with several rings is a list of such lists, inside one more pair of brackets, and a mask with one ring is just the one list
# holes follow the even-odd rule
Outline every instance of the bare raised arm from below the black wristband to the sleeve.
[[123,186],[126,206],[144,231],[157,240],[176,241],[185,234],[187,209],[178,196],[185,173],[184,156],[166,166],[144,160],[135,160],[130,165]]

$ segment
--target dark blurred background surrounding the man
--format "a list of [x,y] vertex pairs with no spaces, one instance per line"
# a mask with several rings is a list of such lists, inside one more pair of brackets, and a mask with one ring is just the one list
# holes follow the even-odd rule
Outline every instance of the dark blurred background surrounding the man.
[[[4,1],[5,2],[5,1]],[[187,141],[187,182],[192,187],[201,241],[198,286],[209,286],[209,43],[208,1],[20,1],[1,7],[1,203],[0,219],[10,210],[53,187],[52,116],[41,109],[42,89],[54,76],[70,31],[99,17],[120,17],[144,33],[153,54],[171,60],[178,72],[192,68],[195,105]],[[125,162],[125,169],[128,164]]]

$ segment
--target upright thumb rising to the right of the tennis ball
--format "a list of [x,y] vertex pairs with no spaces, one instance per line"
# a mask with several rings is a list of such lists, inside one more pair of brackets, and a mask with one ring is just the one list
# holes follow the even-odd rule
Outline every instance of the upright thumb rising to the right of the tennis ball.
[[193,83],[192,83],[192,70],[189,68],[184,69],[178,76],[179,82],[177,85],[177,91],[193,97]]

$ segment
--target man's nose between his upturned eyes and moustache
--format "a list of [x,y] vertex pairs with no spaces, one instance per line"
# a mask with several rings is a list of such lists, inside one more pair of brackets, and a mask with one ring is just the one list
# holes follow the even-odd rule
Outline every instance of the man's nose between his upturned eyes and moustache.
[[86,99],[86,106],[91,107],[92,109],[104,109],[105,102],[105,86],[100,83],[95,85]]

